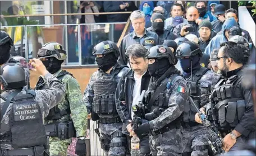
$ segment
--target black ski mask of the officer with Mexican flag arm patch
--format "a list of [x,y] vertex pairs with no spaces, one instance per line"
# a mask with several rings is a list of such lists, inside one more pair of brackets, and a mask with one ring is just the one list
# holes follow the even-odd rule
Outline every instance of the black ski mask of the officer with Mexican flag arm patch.
[[155,60],[156,62],[148,65],[148,72],[150,76],[161,77],[171,67],[171,64],[167,58]]

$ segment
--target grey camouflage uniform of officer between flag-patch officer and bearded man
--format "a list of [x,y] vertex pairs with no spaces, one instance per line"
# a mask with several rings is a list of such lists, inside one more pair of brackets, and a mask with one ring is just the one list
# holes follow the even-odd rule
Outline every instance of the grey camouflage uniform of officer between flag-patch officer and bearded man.
[[[204,69],[204,68],[200,68]],[[195,72],[193,74],[193,80],[196,78],[195,74],[199,74]],[[217,83],[219,75],[212,72],[208,69],[208,71],[202,75],[202,78],[199,79],[198,87],[196,87],[196,94],[201,96],[200,98],[193,98],[194,101],[198,101],[200,103],[200,107],[204,106],[209,102],[209,93],[211,93],[211,86]],[[186,78],[188,84],[190,82],[191,77]],[[191,92],[190,92],[191,94]],[[192,94],[195,96],[195,94]],[[205,95],[205,96],[202,96]],[[189,108],[190,107],[190,108]],[[200,108],[199,107],[199,108]],[[187,109],[186,109],[187,108]],[[191,111],[190,111],[191,110]],[[201,125],[197,124],[194,120],[195,112],[193,111],[193,106],[190,105],[189,101],[185,106],[185,114],[184,114],[184,124],[183,125],[183,134],[184,134],[184,154],[182,155],[208,155],[208,132],[207,129]],[[200,147],[202,147],[200,149]]]

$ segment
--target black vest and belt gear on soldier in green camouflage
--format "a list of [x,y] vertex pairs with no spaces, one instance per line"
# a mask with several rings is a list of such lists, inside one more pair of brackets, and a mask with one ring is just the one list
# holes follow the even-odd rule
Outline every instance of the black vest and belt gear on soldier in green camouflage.
[[[62,79],[66,74],[73,76],[71,73],[68,73],[65,70],[62,70],[62,72],[60,72],[56,78],[60,82],[62,82]],[[49,87],[44,82],[44,79],[40,77],[38,83],[36,84],[35,89],[42,90],[42,89],[48,89],[48,88]],[[65,94],[65,97],[66,97],[66,94]],[[65,121],[65,122],[57,122],[57,120],[61,119],[63,116],[70,115],[70,114],[71,114],[71,111],[70,111],[69,103],[66,110],[60,110],[60,108],[58,108],[58,105],[51,108],[51,110],[49,110],[48,116],[45,117],[45,119],[48,121],[53,120],[53,123],[45,125],[45,131],[47,136],[58,137],[61,140],[76,137],[76,130],[71,120]]]

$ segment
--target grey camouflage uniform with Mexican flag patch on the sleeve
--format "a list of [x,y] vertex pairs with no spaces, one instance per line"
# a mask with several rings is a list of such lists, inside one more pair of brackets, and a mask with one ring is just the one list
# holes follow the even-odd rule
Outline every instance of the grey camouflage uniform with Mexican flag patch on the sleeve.
[[[175,67],[172,67],[175,68]],[[175,68],[176,72],[177,69]],[[166,79],[173,79],[171,86],[166,88],[164,92],[160,93],[162,98],[157,98],[154,101],[150,112],[153,112],[155,108],[162,107],[164,111],[156,119],[149,121],[150,130],[149,130],[149,145],[152,152],[152,155],[181,155],[182,154],[182,127],[180,125],[181,117],[180,115],[184,111],[184,103],[188,98],[188,93],[186,91],[186,82],[185,79],[180,75],[175,75],[170,73],[171,76]],[[164,79],[165,80],[165,79]],[[163,80],[163,81],[164,81]],[[150,96],[154,92],[155,88],[158,86],[152,87],[156,83],[157,79],[152,77],[149,83],[149,89],[146,92],[147,103],[150,100]],[[161,82],[161,84],[163,83]],[[180,91],[179,88],[184,90]],[[160,106],[162,105],[162,106]],[[169,128],[168,131],[163,129],[166,127]],[[160,132],[157,134],[157,132]],[[154,135],[156,133],[157,135]]]

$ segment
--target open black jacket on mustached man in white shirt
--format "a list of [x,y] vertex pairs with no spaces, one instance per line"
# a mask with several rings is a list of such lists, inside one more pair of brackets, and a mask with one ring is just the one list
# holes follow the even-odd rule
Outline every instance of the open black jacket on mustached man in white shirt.
[[[141,79],[140,92],[143,90],[147,91],[149,81],[150,75],[147,71]],[[129,135],[129,133],[126,126],[129,124],[129,120],[131,120],[131,106],[133,100],[132,92],[134,84],[134,71],[130,69],[122,75],[116,88],[116,109],[122,122],[124,123],[122,132],[127,135]],[[125,103],[121,101],[125,101]]]

